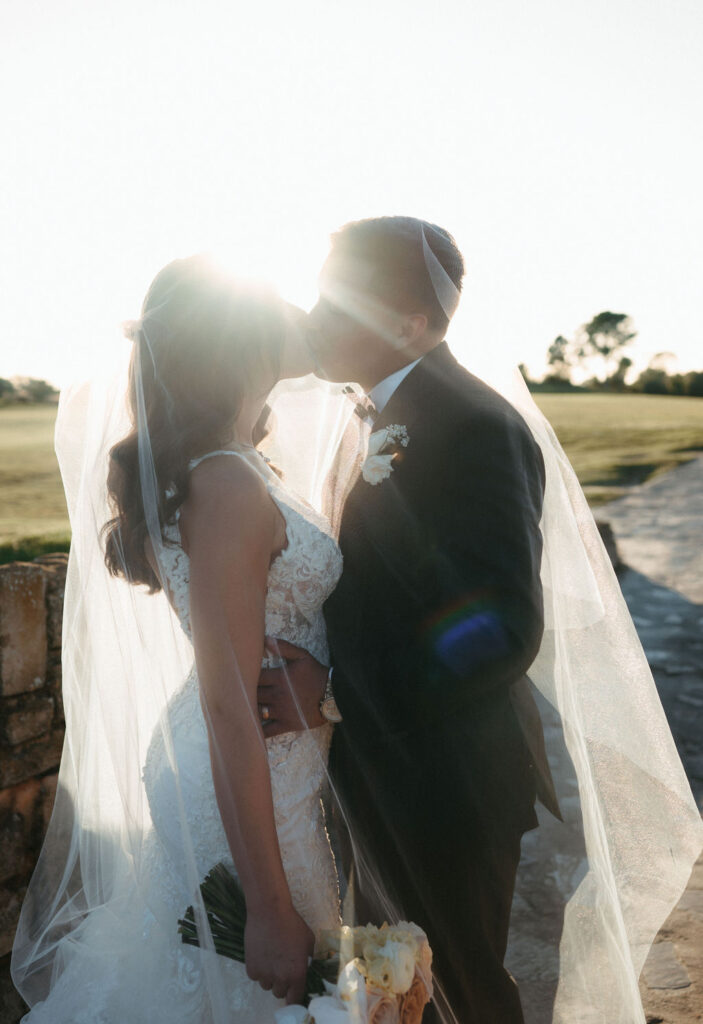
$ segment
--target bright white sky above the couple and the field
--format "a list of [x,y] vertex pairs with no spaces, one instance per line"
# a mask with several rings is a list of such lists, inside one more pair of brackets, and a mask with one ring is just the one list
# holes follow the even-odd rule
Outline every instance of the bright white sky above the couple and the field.
[[701,0],[0,0],[0,376],[195,251],[310,305],[382,213],[455,234],[470,365],[613,309],[702,367],[702,52]]

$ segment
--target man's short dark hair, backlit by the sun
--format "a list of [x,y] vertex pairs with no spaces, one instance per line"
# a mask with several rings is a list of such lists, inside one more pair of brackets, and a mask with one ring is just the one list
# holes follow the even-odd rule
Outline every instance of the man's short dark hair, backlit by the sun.
[[430,327],[445,331],[449,318],[435,292],[423,249],[427,243],[460,292],[464,257],[443,227],[418,217],[369,217],[353,220],[331,239],[331,256],[362,261],[372,269],[375,295],[399,312],[426,313]]

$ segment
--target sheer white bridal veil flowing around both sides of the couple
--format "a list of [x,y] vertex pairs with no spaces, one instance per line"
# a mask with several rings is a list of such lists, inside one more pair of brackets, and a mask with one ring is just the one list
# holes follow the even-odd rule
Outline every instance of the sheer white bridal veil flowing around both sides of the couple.
[[[444,280],[425,232],[420,243],[438,298],[453,313],[456,290]],[[70,983],[77,957],[84,957],[89,973],[98,947],[112,949],[129,979],[112,1004],[121,1006],[124,1020],[136,1020],[135,1008],[158,998],[164,1019],[169,1006],[182,1016],[184,1005],[191,1005],[192,1020],[229,1024],[229,967],[213,951],[199,898],[199,838],[185,812],[188,780],[166,714],[191,674],[193,649],[167,597],[172,562],[165,520],[168,525],[173,481],[160,479],[156,470],[145,371],[139,366],[150,358],[148,372],[158,380],[158,357],[155,361],[149,345],[156,335],[146,322],[135,332],[140,340],[133,356],[124,342],[116,344],[112,367],[63,391],[59,404],[56,450],[73,531],[63,625],[67,739],[12,972],[20,993],[35,1006]],[[450,332],[450,344],[451,337]],[[131,412],[130,358],[137,371]],[[573,470],[517,372],[488,383],[520,412],[544,458],[545,628],[529,677],[564,817],[561,822],[544,815],[542,826],[524,839],[510,966],[525,993],[528,1020],[532,990],[546,977],[556,1024],[642,1024],[638,977],[700,852],[700,816]],[[163,397],[168,410],[173,396]],[[311,377],[281,383],[269,403],[274,427],[265,443],[287,485],[314,508],[334,512],[348,488],[347,470],[338,474],[332,494],[328,486],[339,444],[352,430],[361,451],[367,428],[353,416],[341,387]],[[153,594],[111,575],[104,562],[102,529],[114,512],[109,452],[131,430],[138,441],[144,541],[156,579],[166,585]],[[158,851],[143,772],[155,743],[172,773],[169,829],[180,851],[182,910],[193,905],[204,946],[197,955],[185,947],[173,953],[165,965],[171,972],[165,977],[178,980],[171,987],[155,978],[142,979],[141,987],[138,982],[140,951],[155,922],[175,927],[165,902],[153,897]],[[220,753],[214,751],[213,759]],[[460,800],[462,780],[447,784]],[[329,799],[335,800],[334,785]],[[363,837],[352,841],[363,857]],[[402,907],[392,904],[388,912],[396,921],[404,916]],[[445,1013],[447,1021],[450,1017]]]

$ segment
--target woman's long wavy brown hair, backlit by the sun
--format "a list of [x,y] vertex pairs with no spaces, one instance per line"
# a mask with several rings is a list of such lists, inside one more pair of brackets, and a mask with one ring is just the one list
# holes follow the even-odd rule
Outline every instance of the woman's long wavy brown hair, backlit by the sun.
[[[105,564],[113,575],[161,581],[147,557],[148,529],[139,468],[148,440],[163,528],[188,493],[191,459],[231,440],[241,401],[264,378],[273,383],[284,334],[282,302],[237,287],[202,256],[161,270],[144,299],[141,319],[128,329],[134,349],[128,401],[132,427],[109,453],[113,518],[103,527]],[[270,373],[269,373],[270,372]],[[144,437],[137,403],[143,397]]]

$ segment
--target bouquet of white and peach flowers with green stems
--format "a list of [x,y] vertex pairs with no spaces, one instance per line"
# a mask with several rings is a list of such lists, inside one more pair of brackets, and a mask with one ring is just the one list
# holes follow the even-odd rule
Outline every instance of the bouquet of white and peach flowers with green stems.
[[[201,885],[215,951],[245,963],[247,903],[224,864]],[[199,946],[191,906],[178,922],[182,941]],[[308,968],[304,1007],[276,1011],[277,1024],[420,1024],[432,998],[432,951],[416,925],[342,927],[323,932]]]

